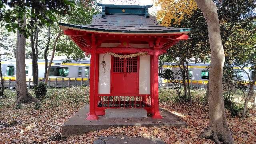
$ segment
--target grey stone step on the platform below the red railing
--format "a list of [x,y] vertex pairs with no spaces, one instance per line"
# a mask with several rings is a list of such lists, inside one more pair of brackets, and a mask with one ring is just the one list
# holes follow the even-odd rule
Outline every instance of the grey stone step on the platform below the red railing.
[[106,118],[146,118],[147,111],[144,108],[108,108],[105,111]]

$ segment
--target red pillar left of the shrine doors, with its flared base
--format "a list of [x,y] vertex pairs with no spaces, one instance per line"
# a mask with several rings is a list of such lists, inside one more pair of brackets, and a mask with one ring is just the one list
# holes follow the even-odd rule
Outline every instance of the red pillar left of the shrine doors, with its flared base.
[[[91,50],[91,64],[90,64],[90,112],[86,120],[98,120],[99,117],[95,113],[95,103],[96,103],[96,97],[95,96],[95,90],[96,90],[96,48],[95,46],[92,46]],[[98,86],[97,86],[98,87]]]

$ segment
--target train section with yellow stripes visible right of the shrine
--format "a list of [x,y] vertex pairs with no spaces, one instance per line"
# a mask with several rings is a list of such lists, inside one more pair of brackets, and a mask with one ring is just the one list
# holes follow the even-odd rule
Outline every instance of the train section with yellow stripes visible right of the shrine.
[[[209,65],[210,64],[195,64],[195,63],[189,63],[188,64],[188,72],[191,74],[191,78],[189,80],[189,83],[192,85],[202,85],[204,86],[205,84],[208,83],[209,80]],[[233,66],[234,70],[237,71],[237,76],[240,77],[243,80],[246,80],[247,82],[249,81],[249,78],[247,74],[242,71],[239,67]],[[160,72],[163,72],[166,69],[171,69],[174,72],[179,70],[179,66],[177,66],[174,63],[164,63],[162,68],[160,69]],[[246,72],[249,73],[250,78],[253,78],[256,74],[254,70],[250,71],[250,67],[245,68]],[[182,80],[180,78],[179,80]],[[162,78],[159,79],[159,82],[163,84],[163,86],[166,86],[167,80],[164,80]]]

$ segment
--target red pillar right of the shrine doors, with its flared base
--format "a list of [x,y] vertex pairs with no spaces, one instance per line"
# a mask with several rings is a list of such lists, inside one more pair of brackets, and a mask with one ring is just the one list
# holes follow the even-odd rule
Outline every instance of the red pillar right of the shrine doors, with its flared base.
[[159,99],[158,99],[158,56],[159,56],[159,48],[154,49],[153,56],[153,98],[154,98],[154,113],[153,119],[161,119],[163,118],[159,112]]

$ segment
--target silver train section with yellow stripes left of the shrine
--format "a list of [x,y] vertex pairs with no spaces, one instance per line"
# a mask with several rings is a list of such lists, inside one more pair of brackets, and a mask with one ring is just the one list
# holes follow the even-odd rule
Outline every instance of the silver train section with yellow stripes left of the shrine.
[[[68,63],[62,63],[63,60],[53,60],[50,68],[50,85],[61,86],[62,78],[65,83],[70,80],[70,85],[74,85],[76,82],[88,83],[90,77],[90,60],[74,61]],[[44,78],[44,60],[38,60],[38,78],[42,81]],[[26,59],[26,81],[30,81],[30,86],[33,86],[32,76],[32,60]],[[16,61],[8,60],[2,62],[2,74],[5,81],[11,81],[12,87],[15,87],[16,81]],[[57,82],[56,82],[57,79]],[[5,82],[4,87],[8,87],[9,83]],[[67,86],[67,84],[64,84]]]

